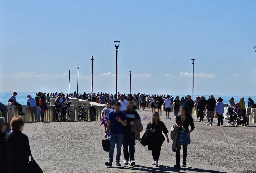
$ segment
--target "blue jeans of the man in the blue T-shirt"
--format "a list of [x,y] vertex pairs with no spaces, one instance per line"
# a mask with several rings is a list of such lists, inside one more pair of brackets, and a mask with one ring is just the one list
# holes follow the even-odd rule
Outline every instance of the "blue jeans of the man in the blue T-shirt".
[[114,149],[116,145],[116,162],[120,161],[121,156],[121,147],[122,147],[122,141],[123,141],[123,134],[113,134],[111,133],[109,135],[109,143],[110,143],[110,150],[108,155],[108,160],[112,163],[113,162],[113,155],[114,155]]

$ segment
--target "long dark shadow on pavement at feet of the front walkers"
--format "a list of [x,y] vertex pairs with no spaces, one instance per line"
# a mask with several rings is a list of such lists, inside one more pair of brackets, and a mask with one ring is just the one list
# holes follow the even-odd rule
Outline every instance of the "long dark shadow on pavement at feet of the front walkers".
[[[113,168],[113,167],[112,167]],[[115,168],[115,167],[114,167]],[[146,172],[156,172],[156,173],[167,173],[167,172],[208,172],[208,173],[224,173],[220,171],[214,171],[214,170],[207,170],[207,169],[199,169],[199,168],[192,168],[192,167],[186,167],[186,168],[174,168],[171,166],[164,166],[159,165],[158,167],[147,167],[147,166],[121,166],[116,167],[117,169],[127,169],[127,170],[133,170],[133,171],[146,171]]]

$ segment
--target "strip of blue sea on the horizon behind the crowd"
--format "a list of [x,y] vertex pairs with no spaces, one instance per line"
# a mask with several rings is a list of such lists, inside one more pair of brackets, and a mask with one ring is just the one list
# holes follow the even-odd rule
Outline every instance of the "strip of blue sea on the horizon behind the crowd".
[[[21,105],[27,105],[27,95],[30,94],[31,97],[35,97],[36,93],[35,92],[17,92],[17,96],[16,96],[16,101],[19,102]],[[66,93],[67,94],[67,93]],[[8,100],[10,99],[10,97],[13,95],[13,92],[0,92],[0,102],[3,103],[4,105],[8,105]],[[151,94],[154,95],[154,94]],[[164,95],[164,94],[157,94],[157,95]],[[167,94],[165,94],[167,95]],[[169,94],[170,95],[170,94]],[[181,94],[171,94],[174,96],[174,98],[176,96],[179,96],[179,98],[181,99],[181,97],[185,97],[187,95],[181,95]],[[194,98],[197,95],[194,95]],[[209,98],[209,95],[204,95],[206,97],[206,99]],[[251,97],[254,101],[256,101],[256,96],[218,96],[218,95],[214,95],[214,98],[218,98],[221,97],[223,99],[223,103],[224,104],[228,104],[229,103],[229,99],[231,97],[234,97],[235,99],[235,103],[240,101],[241,97],[244,97],[245,99],[245,106],[248,107],[248,98]]]

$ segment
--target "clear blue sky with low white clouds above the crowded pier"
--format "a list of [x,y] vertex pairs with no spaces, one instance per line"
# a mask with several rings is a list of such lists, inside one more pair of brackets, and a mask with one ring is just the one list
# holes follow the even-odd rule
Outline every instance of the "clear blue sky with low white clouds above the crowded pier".
[[0,1],[0,91],[256,95],[255,1]]

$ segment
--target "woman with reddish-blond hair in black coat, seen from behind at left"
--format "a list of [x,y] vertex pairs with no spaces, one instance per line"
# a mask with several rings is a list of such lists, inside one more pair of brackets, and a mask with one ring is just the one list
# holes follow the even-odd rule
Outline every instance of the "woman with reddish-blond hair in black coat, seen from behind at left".
[[22,133],[24,120],[15,116],[10,122],[11,131],[5,138],[6,167],[9,173],[26,173],[27,161],[30,156],[30,146],[27,135]]

